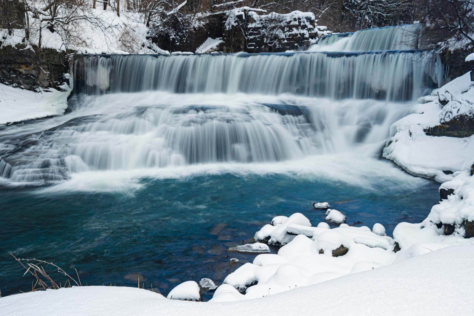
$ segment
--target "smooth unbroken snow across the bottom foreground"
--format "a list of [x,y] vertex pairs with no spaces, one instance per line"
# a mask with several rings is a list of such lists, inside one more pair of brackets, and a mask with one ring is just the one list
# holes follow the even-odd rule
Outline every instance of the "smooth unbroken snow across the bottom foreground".
[[[469,315],[474,246],[453,246],[373,271],[246,301],[165,299],[137,288],[87,286],[0,298],[4,315]],[[454,268],[456,267],[456,268]]]

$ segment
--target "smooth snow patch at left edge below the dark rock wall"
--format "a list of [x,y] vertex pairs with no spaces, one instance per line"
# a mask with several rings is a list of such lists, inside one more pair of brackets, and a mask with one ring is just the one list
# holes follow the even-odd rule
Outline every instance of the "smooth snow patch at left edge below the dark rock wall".
[[33,92],[0,83],[0,125],[64,113],[70,89]]

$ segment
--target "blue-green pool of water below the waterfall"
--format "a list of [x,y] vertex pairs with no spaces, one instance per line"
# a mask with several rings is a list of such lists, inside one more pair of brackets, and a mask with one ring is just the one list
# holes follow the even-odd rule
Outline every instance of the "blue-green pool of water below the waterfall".
[[[348,224],[372,228],[379,222],[388,234],[399,222],[420,222],[438,200],[438,184],[404,177],[412,183],[381,181],[370,188],[322,177],[231,172],[142,179],[140,189],[116,193],[1,188],[0,290],[5,296],[31,289],[32,279],[22,277],[9,253],[52,261],[70,273],[77,268],[88,285],[137,286],[131,274],[164,295],[185,280],[206,277],[219,285],[254,258],[227,253],[229,246],[249,241],[277,215],[301,212],[317,225],[324,212],[311,208],[315,201],[346,213]],[[232,257],[240,262],[229,267]]]

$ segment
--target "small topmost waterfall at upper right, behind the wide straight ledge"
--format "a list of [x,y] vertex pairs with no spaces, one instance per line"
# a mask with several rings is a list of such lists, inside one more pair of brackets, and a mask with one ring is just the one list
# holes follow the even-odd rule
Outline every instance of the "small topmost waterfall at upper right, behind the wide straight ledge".
[[367,28],[354,33],[323,36],[311,45],[312,52],[374,52],[419,49],[419,24]]

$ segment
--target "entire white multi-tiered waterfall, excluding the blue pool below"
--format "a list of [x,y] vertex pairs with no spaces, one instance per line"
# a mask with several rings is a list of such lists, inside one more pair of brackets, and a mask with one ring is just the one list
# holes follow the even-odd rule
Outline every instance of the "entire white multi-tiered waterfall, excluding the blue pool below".
[[346,41],[341,51],[76,55],[72,113],[0,131],[0,183],[375,155],[414,100],[443,84],[438,58],[414,42],[399,50],[398,31],[317,44]]

